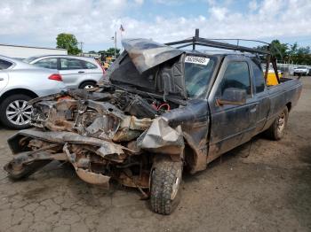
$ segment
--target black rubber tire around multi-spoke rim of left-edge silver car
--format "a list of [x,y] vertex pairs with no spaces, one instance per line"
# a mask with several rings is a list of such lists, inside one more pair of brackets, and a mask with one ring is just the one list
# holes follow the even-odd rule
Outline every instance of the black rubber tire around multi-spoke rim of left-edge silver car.
[[14,101],[16,100],[22,100],[22,101],[29,101],[30,99],[32,99],[33,97],[29,97],[27,95],[23,95],[23,94],[16,94],[16,95],[12,95],[10,97],[6,97],[4,99],[4,101],[0,104],[0,120],[1,122],[4,124],[5,127],[7,128],[12,128],[12,129],[25,129],[25,128],[29,128],[29,123],[25,124],[25,125],[17,125],[17,124],[13,124],[6,115],[6,109],[9,106],[9,104],[12,104]]

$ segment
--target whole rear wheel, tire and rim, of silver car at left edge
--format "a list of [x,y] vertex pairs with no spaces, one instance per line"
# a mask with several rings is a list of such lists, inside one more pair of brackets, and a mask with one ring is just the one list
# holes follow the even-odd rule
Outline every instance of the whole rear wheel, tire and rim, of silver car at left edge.
[[32,106],[28,101],[32,97],[17,94],[6,97],[0,104],[0,120],[4,126],[13,129],[24,129],[29,127]]

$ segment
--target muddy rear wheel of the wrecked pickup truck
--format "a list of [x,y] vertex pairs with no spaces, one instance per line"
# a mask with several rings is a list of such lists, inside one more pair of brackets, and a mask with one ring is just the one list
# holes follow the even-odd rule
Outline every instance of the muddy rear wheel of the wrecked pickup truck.
[[283,135],[288,121],[288,109],[285,106],[283,111],[277,116],[270,128],[267,129],[266,135],[272,140],[280,140]]

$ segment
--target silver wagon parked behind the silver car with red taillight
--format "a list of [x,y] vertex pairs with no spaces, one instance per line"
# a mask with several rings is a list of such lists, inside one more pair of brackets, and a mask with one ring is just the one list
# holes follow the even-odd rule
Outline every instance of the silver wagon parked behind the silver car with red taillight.
[[31,57],[24,61],[35,66],[59,70],[68,89],[93,88],[105,73],[94,58],[50,55]]

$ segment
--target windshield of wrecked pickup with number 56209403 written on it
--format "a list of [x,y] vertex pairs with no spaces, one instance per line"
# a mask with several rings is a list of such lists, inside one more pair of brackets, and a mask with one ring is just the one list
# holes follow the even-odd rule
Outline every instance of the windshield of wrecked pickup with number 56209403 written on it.
[[187,96],[203,97],[214,70],[215,61],[211,58],[187,56],[185,58],[185,81]]

